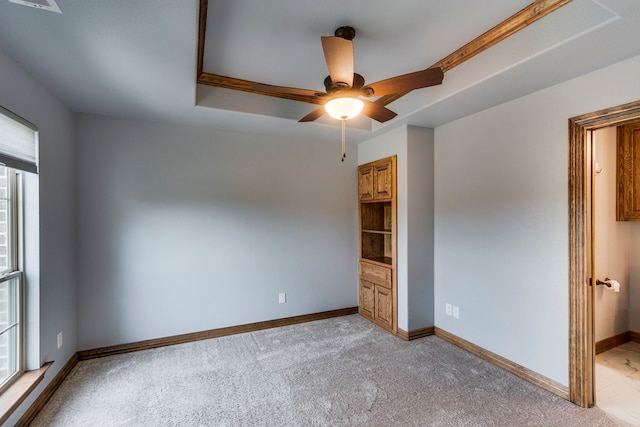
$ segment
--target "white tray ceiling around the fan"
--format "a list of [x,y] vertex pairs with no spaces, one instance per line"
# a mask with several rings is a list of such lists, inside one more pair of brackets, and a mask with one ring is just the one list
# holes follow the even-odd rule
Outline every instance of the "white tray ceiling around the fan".
[[[205,72],[322,90],[320,36],[353,26],[367,82],[421,70],[533,0],[209,0]],[[57,0],[62,14],[0,0],[0,48],[73,111],[336,139],[298,123],[315,106],[196,85],[198,0]],[[434,127],[640,54],[640,1],[573,0],[388,105],[350,123],[358,142],[400,124]],[[1,78],[1,76],[0,76]],[[0,99],[0,105],[2,99]],[[355,129],[358,128],[358,129]]]

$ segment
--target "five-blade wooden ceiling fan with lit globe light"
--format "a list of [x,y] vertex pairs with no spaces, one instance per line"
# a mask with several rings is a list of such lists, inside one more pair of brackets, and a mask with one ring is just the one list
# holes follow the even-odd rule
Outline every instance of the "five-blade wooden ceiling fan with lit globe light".
[[355,35],[356,30],[353,27],[340,27],[335,31],[335,36],[321,37],[324,58],[329,69],[329,76],[324,79],[325,92],[263,83],[253,83],[251,88],[273,94],[310,97],[308,102],[314,104],[320,99],[322,106],[304,116],[300,122],[316,120],[325,112],[343,122],[360,112],[379,122],[386,122],[397,114],[384,105],[361,97],[406,93],[442,83],[444,73],[440,67],[434,67],[365,84],[364,77],[354,72],[352,40]]

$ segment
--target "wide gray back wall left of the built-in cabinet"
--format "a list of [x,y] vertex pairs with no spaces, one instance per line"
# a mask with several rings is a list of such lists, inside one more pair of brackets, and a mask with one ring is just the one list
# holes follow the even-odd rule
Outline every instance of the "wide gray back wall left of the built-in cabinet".
[[77,137],[80,349],[358,305],[335,141],[94,115]]

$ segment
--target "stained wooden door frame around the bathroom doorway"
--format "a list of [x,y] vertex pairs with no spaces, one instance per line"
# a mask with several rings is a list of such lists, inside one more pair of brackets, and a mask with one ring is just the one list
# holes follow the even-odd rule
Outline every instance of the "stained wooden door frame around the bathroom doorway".
[[639,119],[640,101],[569,119],[569,400],[585,408],[592,405],[594,385],[587,133]]

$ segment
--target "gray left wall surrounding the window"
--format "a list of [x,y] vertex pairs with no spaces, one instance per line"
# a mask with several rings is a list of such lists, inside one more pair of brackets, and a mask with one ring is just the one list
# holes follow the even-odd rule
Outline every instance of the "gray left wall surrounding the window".
[[[0,104],[40,130],[39,265],[31,266],[35,277],[32,275],[33,281],[27,284],[40,282],[39,295],[27,289],[27,298],[33,302],[27,316],[36,322],[29,327],[31,332],[39,331],[39,337],[29,337],[36,343],[30,350],[35,348],[37,353],[29,359],[40,364],[56,362],[7,421],[12,425],[76,351],[75,136],[73,114],[2,50],[0,76]],[[64,337],[60,350],[58,332]]]

